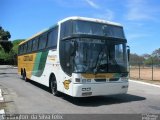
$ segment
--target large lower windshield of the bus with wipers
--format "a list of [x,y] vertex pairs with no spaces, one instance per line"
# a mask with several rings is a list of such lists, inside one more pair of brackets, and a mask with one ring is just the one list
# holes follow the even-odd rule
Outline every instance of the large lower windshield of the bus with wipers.
[[77,38],[62,41],[60,48],[60,62],[68,74],[127,72],[125,43]]

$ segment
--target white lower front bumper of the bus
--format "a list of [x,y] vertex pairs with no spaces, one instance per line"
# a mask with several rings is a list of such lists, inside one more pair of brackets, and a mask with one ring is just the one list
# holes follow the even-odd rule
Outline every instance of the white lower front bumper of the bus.
[[128,82],[106,82],[73,84],[73,97],[90,97],[102,95],[125,94],[128,91]]

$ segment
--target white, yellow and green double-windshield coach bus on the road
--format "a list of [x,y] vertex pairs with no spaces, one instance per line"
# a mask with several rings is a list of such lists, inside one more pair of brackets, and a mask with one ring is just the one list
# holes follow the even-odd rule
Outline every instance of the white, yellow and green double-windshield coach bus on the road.
[[18,73],[55,96],[125,94],[128,51],[121,24],[68,17],[19,44]]

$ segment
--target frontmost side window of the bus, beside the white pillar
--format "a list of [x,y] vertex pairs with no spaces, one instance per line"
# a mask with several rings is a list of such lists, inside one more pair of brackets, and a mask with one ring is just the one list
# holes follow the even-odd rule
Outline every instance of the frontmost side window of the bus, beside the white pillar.
[[47,48],[57,46],[57,36],[58,36],[58,27],[52,29],[52,31],[48,33]]

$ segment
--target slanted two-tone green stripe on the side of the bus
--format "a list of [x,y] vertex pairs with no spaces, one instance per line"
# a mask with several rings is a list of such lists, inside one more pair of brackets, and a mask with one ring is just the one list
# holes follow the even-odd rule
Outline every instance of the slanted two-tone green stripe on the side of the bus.
[[37,53],[32,75],[37,77],[40,77],[42,75],[46,64],[47,56],[48,56],[48,51]]

